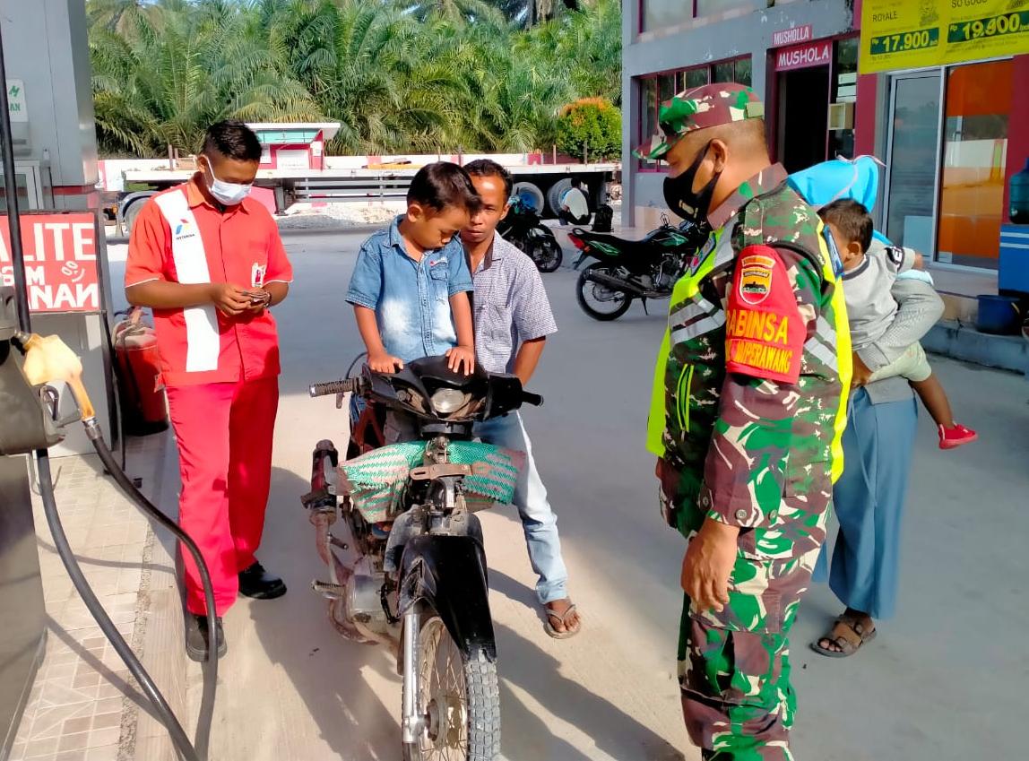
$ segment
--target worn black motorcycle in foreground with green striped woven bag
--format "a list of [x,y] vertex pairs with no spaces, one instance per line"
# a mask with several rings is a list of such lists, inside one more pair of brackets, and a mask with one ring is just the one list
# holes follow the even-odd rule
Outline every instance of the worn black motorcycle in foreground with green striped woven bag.
[[[497,647],[474,512],[510,502],[524,455],[473,441],[472,427],[542,399],[513,375],[452,372],[446,357],[311,387],[338,407],[347,392],[368,402],[348,459],[320,441],[303,498],[329,573],[313,587],[340,633],[397,654],[404,761],[493,761]],[[386,409],[413,419],[418,439],[371,448]]]

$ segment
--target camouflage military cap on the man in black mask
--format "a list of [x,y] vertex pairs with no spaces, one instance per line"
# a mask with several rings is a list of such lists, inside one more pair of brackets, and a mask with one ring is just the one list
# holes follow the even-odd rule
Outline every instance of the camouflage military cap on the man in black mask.
[[765,104],[745,84],[715,82],[694,87],[661,104],[662,134],[654,135],[633,152],[638,158],[661,158],[683,135],[764,116]]

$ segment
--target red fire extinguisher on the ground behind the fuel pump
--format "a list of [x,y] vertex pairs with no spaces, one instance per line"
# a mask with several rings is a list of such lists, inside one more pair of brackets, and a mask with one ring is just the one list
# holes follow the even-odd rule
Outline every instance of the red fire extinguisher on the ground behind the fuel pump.
[[142,307],[133,307],[129,317],[114,326],[113,335],[121,414],[126,432],[134,436],[168,428],[157,335],[142,317]]

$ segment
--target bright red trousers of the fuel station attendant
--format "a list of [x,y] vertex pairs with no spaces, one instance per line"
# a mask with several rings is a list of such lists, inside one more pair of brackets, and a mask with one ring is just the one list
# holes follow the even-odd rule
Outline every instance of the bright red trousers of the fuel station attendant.
[[[272,478],[279,378],[169,387],[179,446],[179,524],[211,571],[218,615],[239,593],[239,573],[254,563]],[[186,609],[203,614],[197,564],[183,552]]]

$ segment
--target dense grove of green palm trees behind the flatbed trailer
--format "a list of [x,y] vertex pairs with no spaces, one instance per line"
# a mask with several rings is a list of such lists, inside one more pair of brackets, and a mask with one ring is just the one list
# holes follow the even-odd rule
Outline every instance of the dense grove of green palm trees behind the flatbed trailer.
[[229,116],[339,120],[330,152],[546,145],[563,104],[620,92],[616,0],[570,4],[87,0],[101,148],[193,150]]

